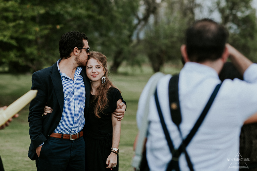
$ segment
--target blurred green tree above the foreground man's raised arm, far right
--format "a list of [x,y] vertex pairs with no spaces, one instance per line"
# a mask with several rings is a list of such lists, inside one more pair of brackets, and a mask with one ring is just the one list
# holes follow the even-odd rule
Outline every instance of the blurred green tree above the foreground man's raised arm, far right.
[[254,62],[257,62],[257,23],[252,0],[218,0],[216,5],[222,24],[229,31],[228,42]]

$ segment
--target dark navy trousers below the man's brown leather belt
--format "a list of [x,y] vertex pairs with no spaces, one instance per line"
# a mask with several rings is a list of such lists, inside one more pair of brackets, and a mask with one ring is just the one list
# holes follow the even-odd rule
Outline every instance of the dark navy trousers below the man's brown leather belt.
[[36,158],[38,171],[85,171],[85,141],[48,137]]

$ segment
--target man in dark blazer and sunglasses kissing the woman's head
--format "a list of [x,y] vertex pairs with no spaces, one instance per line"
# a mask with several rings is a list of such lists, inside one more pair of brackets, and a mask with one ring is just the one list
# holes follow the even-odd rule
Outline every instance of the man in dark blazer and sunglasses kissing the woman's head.
[[[87,37],[65,33],[59,42],[61,59],[32,75],[37,97],[30,103],[29,158],[37,170],[85,170],[83,126],[89,106],[90,84],[85,66],[89,55]],[[45,104],[54,109],[43,115]],[[123,118],[126,105],[117,111]]]

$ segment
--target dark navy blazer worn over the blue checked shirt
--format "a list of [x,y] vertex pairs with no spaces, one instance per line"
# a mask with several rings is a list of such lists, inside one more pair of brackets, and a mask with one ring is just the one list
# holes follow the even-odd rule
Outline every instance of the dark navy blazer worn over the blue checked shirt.
[[[86,120],[89,106],[90,84],[85,67],[83,67],[81,74],[86,90],[84,110]],[[31,139],[28,156],[31,160],[35,160],[37,156],[35,149],[45,142],[47,137],[53,133],[61,121],[63,113],[63,84],[57,68],[57,62],[53,64],[53,66],[39,70],[32,75],[31,89],[38,90],[37,96],[30,103],[28,118],[29,135]],[[52,113],[43,115],[46,103],[53,111]]]

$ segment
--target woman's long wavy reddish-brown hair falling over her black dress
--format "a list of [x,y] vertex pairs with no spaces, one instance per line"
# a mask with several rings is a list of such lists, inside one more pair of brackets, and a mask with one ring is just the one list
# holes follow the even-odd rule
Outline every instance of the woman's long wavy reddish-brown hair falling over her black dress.
[[105,84],[102,84],[101,82],[100,86],[97,87],[96,93],[93,96],[93,99],[91,101],[91,105],[96,101],[94,105],[94,113],[97,118],[101,118],[100,116],[101,113],[103,113],[103,110],[109,106],[109,100],[107,99],[107,93],[109,88],[110,87],[117,88],[117,87],[114,86],[108,78],[109,75],[108,75],[108,68],[107,68],[107,57],[100,52],[91,51],[88,60],[91,58],[97,60],[99,64],[103,66],[103,70],[105,73],[104,76],[106,77]]

